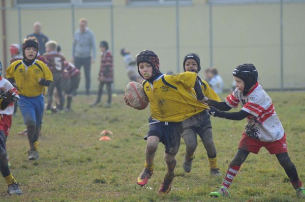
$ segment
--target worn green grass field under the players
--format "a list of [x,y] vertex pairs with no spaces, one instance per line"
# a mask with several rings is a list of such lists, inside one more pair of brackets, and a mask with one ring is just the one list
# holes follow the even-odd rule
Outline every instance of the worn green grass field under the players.
[[[305,94],[269,92],[287,135],[289,155],[305,183]],[[222,94],[224,98],[226,94]],[[264,148],[250,154],[230,187],[230,199],[213,199],[209,193],[219,187],[222,177],[210,176],[208,160],[200,142],[192,172],[182,169],[185,144],[181,141],[172,191],[157,194],[166,165],[160,143],[154,175],[144,187],[136,178],[144,166],[149,109],[135,110],[113,97],[110,109],[89,107],[96,96],[74,99],[74,111],[45,114],[40,138],[40,159],[27,160],[27,137],[17,135],[24,129],[20,112],[13,117],[7,141],[12,173],[23,195],[9,196],[2,179],[0,201],[304,201],[296,198],[289,179],[275,155]],[[105,99],[105,97],[104,97]],[[212,117],[218,163],[224,175],[233,158],[246,120],[232,121]],[[100,132],[113,132],[111,141],[99,141]],[[199,140],[199,139],[198,139]]]

